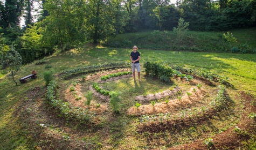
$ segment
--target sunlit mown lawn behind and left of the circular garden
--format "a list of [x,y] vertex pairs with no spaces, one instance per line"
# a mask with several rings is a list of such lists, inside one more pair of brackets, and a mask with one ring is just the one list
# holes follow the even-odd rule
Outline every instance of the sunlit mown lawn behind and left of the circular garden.
[[[1,71],[0,149],[26,149],[27,145],[33,145],[33,142],[27,140],[25,129],[17,122],[18,116],[15,116],[15,112],[28,89],[33,87],[42,87],[43,89],[45,81],[43,81],[42,72],[53,70],[55,73],[59,73],[65,69],[81,65],[125,61],[129,59],[131,51],[132,49],[87,45],[82,49],[65,53],[58,52],[46,58],[47,61],[50,61],[49,64],[52,65],[51,69],[45,69],[45,65],[35,65],[35,62],[24,66],[16,74],[16,81],[30,74],[32,69],[37,71],[38,78],[27,80],[26,84],[19,83],[18,86],[15,86],[10,74]],[[177,54],[176,51],[148,49],[139,49],[138,51],[141,53],[141,64],[146,61],[168,61],[185,66],[195,66],[196,69],[209,69],[229,77],[229,82],[234,85],[233,89],[235,91],[256,93],[256,54],[193,53],[186,51]],[[71,84],[71,80],[63,80],[61,78],[56,78],[56,80],[60,83],[65,83],[65,85]],[[104,86],[108,87],[108,84]],[[120,84],[112,88],[126,88],[126,86]],[[142,90],[141,93],[143,94],[143,92],[145,91]],[[122,119],[120,118],[120,122],[123,121]]]

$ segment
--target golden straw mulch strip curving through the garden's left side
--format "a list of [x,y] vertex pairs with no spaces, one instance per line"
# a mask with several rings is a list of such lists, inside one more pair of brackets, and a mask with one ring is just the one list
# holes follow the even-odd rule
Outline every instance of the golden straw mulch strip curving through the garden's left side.
[[[88,107],[85,105],[85,103],[84,103],[84,101],[87,101],[86,100],[86,98],[82,95],[82,93],[80,92],[81,91],[81,84],[77,84],[77,85],[75,85],[74,86],[74,88],[75,88],[75,92],[77,93],[77,94],[75,94],[75,95],[78,95],[78,96],[81,96],[81,100],[75,100],[75,96],[74,96],[74,91],[70,91],[70,87],[71,86],[73,86],[73,84],[71,84],[70,86],[68,86],[67,87],[67,89],[66,89],[66,91],[65,91],[65,93],[66,93],[66,95],[65,95],[65,99],[68,101],[68,102],[70,102],[73,106],[75,106],[75,107],[80,107],[80,108],[84,108],[84,109],[87,109]],[[96,114],[102,114],[102,112],[104,112],[104,111],[106,111],[107,110],[107,107],[105,106],[105,105],[100,105],[100,107],[99,108],[96,108],[95,107],[95,104],[94,104],[95,102],[91,102],[91,106],[90,106],[90,108],[89,108],[89,110],[90,111],[95,111],[96,112]]]

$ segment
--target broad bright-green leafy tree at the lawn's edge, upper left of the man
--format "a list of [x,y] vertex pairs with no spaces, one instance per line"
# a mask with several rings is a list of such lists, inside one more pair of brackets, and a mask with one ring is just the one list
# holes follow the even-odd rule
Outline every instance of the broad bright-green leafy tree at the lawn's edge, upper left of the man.
[[85,41],[85,2],[80,0],[49,0],[44,9],[50,15],[44,20],[42,41],[48,46],[60,46],[61,51],[70,44],[74,46]]

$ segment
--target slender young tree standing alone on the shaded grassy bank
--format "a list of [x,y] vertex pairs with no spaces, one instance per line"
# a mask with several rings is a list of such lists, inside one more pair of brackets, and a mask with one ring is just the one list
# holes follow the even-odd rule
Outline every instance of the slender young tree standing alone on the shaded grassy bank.
[[[189,22],[184,22],[184,19],[179,19],[178,27],[174,27],[174,33],[177,34],[177,39],[179,41],[179,47],[181,46],[181,41],[183,39],[184,34],[189,30],[187,27],[189,26]],[[179,49],[178,49],[179,53]]]

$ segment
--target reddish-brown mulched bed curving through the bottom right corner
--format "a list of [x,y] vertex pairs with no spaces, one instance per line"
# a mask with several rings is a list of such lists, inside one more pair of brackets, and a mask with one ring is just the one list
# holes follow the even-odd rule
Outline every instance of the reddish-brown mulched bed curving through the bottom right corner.
[[[240,91],[240,97],[244,100],[244,108],[247,112],[256,112],[256,107],[252,106],[250,103],[251,101],[255,101],[254,97],[251,95],[247,95],[244,91]],[[250,134],[256,131],[255,120],[253,121],[251,118],[248,118],[246,113],[243,114],[241,117],[240,124],[238,126],[242,132],[234,132],[234,127],[227,129],[225,132],[217,134],[213,137],[214,145],[212,147],[207,147],[204,144],[203,140],[196,140],[192,144],[185,144],[180,145],[177,148],[170,148],[174,149],[195,149],[195,150],[204,150],[204,149],[235,149],[239,146],[243,146],[241,141],[247,141],[251,138]]]

